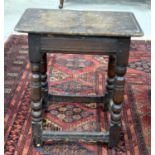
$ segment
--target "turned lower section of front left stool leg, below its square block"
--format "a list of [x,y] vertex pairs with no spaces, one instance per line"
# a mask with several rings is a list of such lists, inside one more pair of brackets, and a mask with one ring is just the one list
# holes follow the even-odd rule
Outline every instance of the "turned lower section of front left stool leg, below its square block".
[[32,134],[33,143],[36,147],[41,146],[42,132],[42,99],[41,99],[41,76],[40,64],[31,62],[32,70]]

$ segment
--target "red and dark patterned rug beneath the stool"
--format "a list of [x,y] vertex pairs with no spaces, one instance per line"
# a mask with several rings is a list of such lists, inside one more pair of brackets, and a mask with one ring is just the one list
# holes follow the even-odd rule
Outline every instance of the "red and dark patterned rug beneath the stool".
[[[34,149],[31,139],[30,66],[27,36],[5,43],[5,155],[147,155],[151,151],[150,41],[132,41],[126,74],[121,141],[108,149],[100,143],[47,142]],[[106,56],[48,55],[49,91],[56,94],[104,93]],[[44,129],[105,131],[107,114],[96,103],[53,103]]]

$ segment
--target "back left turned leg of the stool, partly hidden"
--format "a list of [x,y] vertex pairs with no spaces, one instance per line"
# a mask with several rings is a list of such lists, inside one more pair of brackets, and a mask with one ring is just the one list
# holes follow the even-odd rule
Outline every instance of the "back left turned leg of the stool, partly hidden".
[[43,108],[47,108],[48,102],[48,82],[47,82],[47,55],[42,53],[41,55],[41,91],[43,98]]

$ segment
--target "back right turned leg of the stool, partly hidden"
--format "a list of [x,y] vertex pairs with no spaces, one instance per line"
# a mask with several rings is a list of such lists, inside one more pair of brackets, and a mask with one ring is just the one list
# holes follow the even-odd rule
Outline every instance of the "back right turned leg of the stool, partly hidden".
[[110,99],[112,99],[113,95],[114,81],[115,81],[115,65],[116,65],[116,57],[115,55],[110,55],[108,63],[108,78],[106,83],[104,111],[109,110]]

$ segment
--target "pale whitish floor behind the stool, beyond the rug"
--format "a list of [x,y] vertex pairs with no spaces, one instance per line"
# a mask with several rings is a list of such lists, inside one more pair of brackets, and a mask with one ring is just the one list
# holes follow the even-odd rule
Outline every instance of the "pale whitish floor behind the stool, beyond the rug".
[[[58,9],[59,0],[5,0],[4,1],[4,40],[14,32],[14,27],[26,8]],[[151,39],[150,0],[66,0],[64,9],[96,11],[131,11],[135,14],[144,36],[138,39]]]

